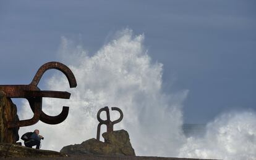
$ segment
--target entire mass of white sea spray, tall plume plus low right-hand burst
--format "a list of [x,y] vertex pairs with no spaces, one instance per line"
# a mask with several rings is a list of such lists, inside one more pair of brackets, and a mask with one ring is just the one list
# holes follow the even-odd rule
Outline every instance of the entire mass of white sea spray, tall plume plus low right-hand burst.
[[[43,110],[56,115],[61,105],[68,105],[69,116],[54,126],[38,122],[22,127],[20,135],[40,129],[45,136],[42,148],[59,151],[96,137],[97,111],[117,106],[124,119],[114,129],[129,132],[137,155],[256,159],[256,114],[252,112],[223,114],[207,125],[205,137],[184,136],[181,104],[188,90],[168,95],[162,92],[163,65],[151,62],[143,38],[123,30],[92,57],[82,46],[62,38],[59,56],[74,72],[78,86],[69,89],[66,77],[54,74],[48,79],[48,89],[67,90],[72,95],[70,100],[44,98]],[[19,116],[28,119],[32,113],[21,109]],[[113,120],[118,116],[111,114]]]

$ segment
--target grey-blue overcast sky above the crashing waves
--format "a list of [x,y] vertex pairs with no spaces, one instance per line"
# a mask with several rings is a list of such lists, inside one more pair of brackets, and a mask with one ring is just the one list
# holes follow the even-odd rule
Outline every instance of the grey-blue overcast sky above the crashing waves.
[[229,110],[256,110],[255,4],[0,1],[0,84],[30,83],[41,65],[59,61],[62,37],[93,55],[117,31],[129,28],[145,36],[147,54],[163,64],[163,92],[189,90],[183,103],[186,123],[207,123]]

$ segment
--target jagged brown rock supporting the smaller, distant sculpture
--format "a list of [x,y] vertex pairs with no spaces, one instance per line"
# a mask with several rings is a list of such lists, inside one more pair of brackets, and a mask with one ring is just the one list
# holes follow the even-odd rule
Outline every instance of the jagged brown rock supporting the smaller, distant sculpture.
[[134,148],[130,144],[129,134],[126,130],[105,132],[102,136],[105,138],[105,142],[92,138],[80,145],[64,146],[61,153],[135,156]]

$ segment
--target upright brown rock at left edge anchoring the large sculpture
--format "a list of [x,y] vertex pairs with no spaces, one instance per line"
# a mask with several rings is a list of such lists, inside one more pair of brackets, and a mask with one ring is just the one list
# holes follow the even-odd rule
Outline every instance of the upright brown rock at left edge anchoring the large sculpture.
[[17,107],[0,90],[0,143],[16,143],[19,140],[19,128],[7,128],[7,122],[11,121],[19,121]]

